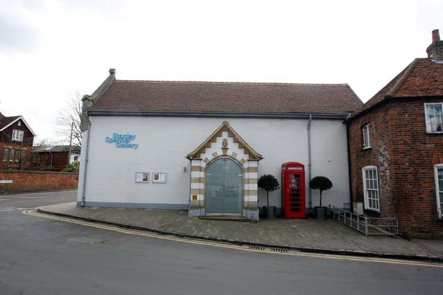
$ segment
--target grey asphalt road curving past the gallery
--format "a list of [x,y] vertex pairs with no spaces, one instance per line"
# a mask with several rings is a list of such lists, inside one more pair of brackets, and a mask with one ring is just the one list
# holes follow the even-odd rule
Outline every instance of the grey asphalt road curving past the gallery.
[[0,196],[0,294],[442,294],[439,267],[239,251],[22,213],[75,194]]

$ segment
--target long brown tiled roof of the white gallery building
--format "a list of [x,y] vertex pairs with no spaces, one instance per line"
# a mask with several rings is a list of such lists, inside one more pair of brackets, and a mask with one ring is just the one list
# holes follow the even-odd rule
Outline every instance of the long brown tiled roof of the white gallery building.
[[114,80],[89,110],[346,115],[361,104],[347,84]]

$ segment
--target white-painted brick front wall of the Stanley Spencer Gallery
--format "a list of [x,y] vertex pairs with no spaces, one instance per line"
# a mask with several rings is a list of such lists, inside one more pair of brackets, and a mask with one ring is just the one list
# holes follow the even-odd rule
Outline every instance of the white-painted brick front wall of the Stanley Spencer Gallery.
[[[281,164],[290,161],[305,164],[307,169],[307,120],[95,116],[90,120],[85,191],[89,202],[188,204],[191,172],[190,161],[185,156],[225,120],[264,156],[258,163],[258,177],[271,173],[281,182]],[[119,149],[115,144],[106,143],[105,137],[113,133],[136,134],[134,143],[138,144],[138,149]],[[78,201],[82,197],[86,133],[83,138]],[[228,142],[229,148],[233,144]],[[313,120],[311,144],[312,177],[325,175],[334,184],[324,193],[323,203],[341,205],[349,202],[345,125],[341,120]],[[228,153],[232,150],[229,149]],[[239,153],[237,159],[241,158]],[[186,166],[186,172],[183,172],[183,166]],[[144,171],[168,173],[167,183],[135,183],[135,173]],[[251,174],[255,176],[255,173]],[[203,172],[192,172],[194,175],[201,177]],[[309,192],[307,175],[306,171],[306,200]],[[152,174],[150,176],[152,178]],[[313,206],[316,206],[318,191],[314,191],[313,196]],[[198,197],[200,200],[201,196]],[[252,200],[253,197],[249,198]],[[271,205],[280,207],[280,190],[270,193],[269,199]],[[259,189],[258,200],[263,206],[266,192]]]

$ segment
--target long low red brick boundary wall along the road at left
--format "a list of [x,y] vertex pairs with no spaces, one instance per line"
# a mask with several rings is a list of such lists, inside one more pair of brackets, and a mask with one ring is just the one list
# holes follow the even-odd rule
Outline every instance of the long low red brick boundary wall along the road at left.
[[76,189],[78,187],[78,173],[0,171],[0,180],[12,180],[12,183],[0,183],[0,193]]

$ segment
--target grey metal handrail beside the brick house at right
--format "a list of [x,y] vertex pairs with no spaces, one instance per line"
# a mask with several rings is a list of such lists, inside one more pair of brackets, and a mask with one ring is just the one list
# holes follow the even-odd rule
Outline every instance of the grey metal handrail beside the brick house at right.
[[399,234],[399,220],[397,218],[359,216],[333,205],[329,205],[329,211],[332,212],[334,219],[360,231],[365,236]]

